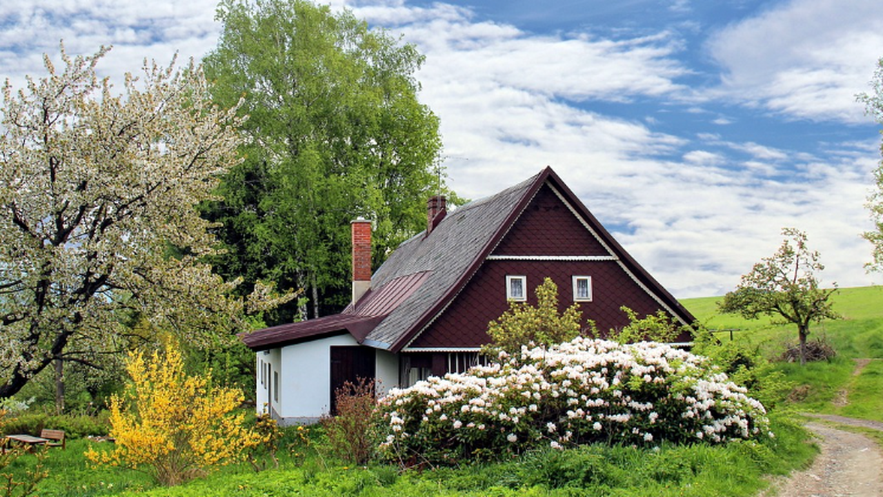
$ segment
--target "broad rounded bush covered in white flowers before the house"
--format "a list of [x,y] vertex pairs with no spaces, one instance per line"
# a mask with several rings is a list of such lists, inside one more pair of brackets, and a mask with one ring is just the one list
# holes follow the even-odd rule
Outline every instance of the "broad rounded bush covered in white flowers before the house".
[[701,356],[582,337],[431,377],[381,400],[381,448],[402,463],[454,462],[592,442],[719,443],[768,433],[766,410]]

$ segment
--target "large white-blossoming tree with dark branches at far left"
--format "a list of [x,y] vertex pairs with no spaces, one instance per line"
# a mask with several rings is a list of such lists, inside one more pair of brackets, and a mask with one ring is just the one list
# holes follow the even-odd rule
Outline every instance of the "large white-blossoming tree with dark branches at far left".
[[0,134],[0,398],[53,361],[100,367],[125,348],[126,315],[191,342],[237,326],[235,282],[213,274],[208,200],[236,164],[234,107],[200,67],[145,64],[115,95],[92,57],[13,92]]

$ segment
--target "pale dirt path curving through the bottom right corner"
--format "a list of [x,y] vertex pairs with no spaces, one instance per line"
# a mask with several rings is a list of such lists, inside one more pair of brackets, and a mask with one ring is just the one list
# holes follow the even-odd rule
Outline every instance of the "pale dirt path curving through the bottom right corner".
[[[883,423],[850,417],[807,415],[834,423],[883,431]],[[883,454],[871,439],[828,424],[806,424],[819,437],[821,453],[804,471],[792,473],[772,492],[779,497],[883,496]],[[776,490],[778,493],[776,493]]]

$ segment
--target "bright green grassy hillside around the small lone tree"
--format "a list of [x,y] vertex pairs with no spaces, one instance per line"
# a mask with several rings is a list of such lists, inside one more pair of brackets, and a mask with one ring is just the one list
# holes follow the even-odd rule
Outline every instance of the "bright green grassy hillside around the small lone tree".
[[[813,325],[810,340],[826,340],[837,356],[830,363],[777,363],[776,370],[793,382],[791,400],[800,410],[883,421],[883,287],[841,288],[832,296],[843,317]],[[721,297],[683,300],[683,305],[709,329],[736,330],[733,340],[758,347],[766,356],[781,355],[796,343],[794,325],[773,325],[769,318],[749,321],[720,314]],[[730,340],[730,332],[718,332]],[[867,361],[870,360],[870,361]]]

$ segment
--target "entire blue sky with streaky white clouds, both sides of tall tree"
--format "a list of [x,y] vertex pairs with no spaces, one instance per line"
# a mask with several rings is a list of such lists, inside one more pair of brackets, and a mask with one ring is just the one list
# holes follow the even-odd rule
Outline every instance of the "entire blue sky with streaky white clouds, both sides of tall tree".
[[[426,56],[420,101],[443,165],[477,199],[547,165],[678,298],[725,294],[781,229],[809,236],[824,286],[868,273],[866,203],[879,124],[857,94],[883,57],[879,0],[334,0]],[[199,59],[215,0],[0,4],[0,77],[21,88],[42,54],[113,50]]]

